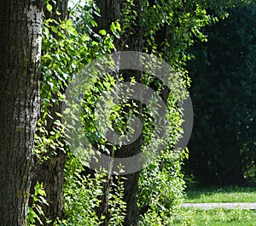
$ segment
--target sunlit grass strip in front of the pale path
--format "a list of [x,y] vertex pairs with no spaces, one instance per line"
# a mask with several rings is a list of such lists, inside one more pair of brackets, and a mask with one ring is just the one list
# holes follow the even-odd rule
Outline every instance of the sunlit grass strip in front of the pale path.
[[256,212],[248,210],[198,210],[181,209],[172,225],[177,226],[255,226]]

